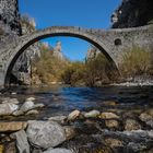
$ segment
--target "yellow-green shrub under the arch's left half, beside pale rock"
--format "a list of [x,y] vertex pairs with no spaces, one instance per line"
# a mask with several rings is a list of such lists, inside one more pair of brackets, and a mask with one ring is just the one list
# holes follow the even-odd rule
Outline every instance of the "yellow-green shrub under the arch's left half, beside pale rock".
[[43,83],[49,84],[50,82],[60,81],[60,75],[67,64],[68,61],[52,56],[49,49],[44,48],[40,59],[33,61],[32,73],[33,76],[37,75]]

